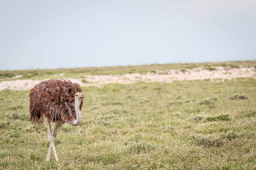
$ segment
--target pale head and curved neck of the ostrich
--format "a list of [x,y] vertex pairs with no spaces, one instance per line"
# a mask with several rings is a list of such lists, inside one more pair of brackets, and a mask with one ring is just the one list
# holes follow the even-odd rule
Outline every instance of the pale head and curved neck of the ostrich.
[[75,109],[76,109],[76,120],[73,120],[71,122],[68,122],[69,124],[71,124],[72,126],[77,126],[81,123],[82,121],[82,116],[81,116],[81,112],[80,112],[80,103],[82,101],[82,99],[84,99],[84,95],[81,92],[77,92],[75,94]]

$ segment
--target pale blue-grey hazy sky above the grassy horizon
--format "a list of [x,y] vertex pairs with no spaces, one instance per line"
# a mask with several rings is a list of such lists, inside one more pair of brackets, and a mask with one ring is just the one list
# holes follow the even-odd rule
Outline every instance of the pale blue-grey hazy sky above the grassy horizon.
[[256,59],[255,0],[0,0],[0,70]]

